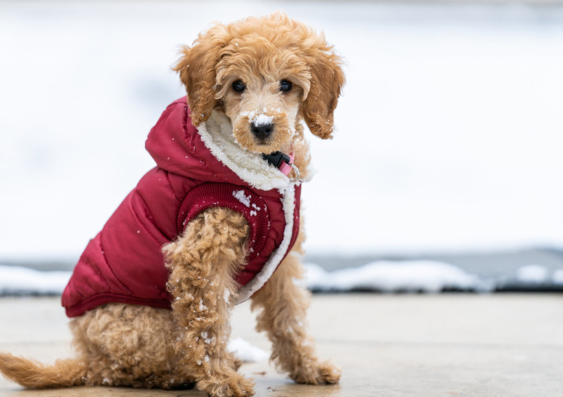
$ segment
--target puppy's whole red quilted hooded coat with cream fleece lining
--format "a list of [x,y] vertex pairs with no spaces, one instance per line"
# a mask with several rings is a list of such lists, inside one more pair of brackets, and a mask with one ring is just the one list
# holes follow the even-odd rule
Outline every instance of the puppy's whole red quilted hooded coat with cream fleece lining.
[[262,288],[295,243],[299,183],[229,139],[227,117],[214,112],[196,128],[189,116],[181,98],[150,131],[146,149],[157,167],[84,249],[62,293],[69,317],[110,302],[170,308],[161,249],[211,207],[240,212],[250,226],[238,302]]

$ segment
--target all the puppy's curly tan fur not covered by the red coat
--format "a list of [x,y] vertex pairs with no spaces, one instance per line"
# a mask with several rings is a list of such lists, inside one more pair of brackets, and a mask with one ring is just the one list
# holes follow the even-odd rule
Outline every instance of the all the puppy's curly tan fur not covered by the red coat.
[[[322,35],[278,12],[216,25],[183,48],[176,65],[187,89],[192,121],[212,112],[227,116],[231,139],[244,150],[293,150],[308,178],[309,148],[302,121],[326,139],[344,83],[339,59]],[[240,80],[244,91],[233,89]],[[280,89],[281,80],[292,89]],[[257,137],[257,115],[273,121],[269,137]],[[302,218],[301,218],[302,219]],[[253,381],[237,372],[240,361],[227,351],[229,310],[244,265],[249,225],[241,214],[207,209],[179,238],[163,247],[170,271],[172,310],[106,304],[72,319],[76,359],[45,366],[0,353],[0,372],[28,388],[112,385],[174,389],[194,385],[209,396],[252,396]],[[309,294],[296,286],[303,275],[304,234],[268,283],[252,297],[257,330],[273,343],[271,360],[295,382],[338,383],[340,370],[319,361],[306,332]]]

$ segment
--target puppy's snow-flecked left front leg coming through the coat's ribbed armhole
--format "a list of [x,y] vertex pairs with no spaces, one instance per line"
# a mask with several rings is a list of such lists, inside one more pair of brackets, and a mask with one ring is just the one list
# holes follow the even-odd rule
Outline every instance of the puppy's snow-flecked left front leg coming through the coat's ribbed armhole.
[[165,246],[172,312],[183,334],[175,350],[180,364],[211,396],[252,396],[253,382],[238,374],[227,352],[233,280],[246,256],[249,226],[241,214],[208,209]]

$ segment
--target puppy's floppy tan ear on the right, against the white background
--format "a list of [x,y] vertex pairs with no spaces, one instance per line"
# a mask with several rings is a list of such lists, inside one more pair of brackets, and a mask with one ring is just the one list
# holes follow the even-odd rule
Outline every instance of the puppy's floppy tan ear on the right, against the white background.
[[310,63],[311,88],[301,104],[303,119],[310,131],[322,139],[332,138],[333,113],[345,82],[340,58],[332,47],[323,45]]

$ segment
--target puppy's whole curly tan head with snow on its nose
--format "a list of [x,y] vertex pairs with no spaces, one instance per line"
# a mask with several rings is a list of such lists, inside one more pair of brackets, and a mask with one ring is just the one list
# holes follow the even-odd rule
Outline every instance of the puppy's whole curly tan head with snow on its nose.
[[194,125],[219,108],[243,148],[282,150],[300,120],[314,135],[331,137],[344,83],[340,58],[322,34],[282,12],[215,25],[183,47],[174,70]]

